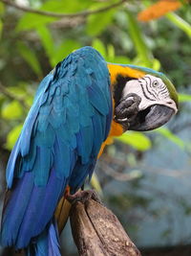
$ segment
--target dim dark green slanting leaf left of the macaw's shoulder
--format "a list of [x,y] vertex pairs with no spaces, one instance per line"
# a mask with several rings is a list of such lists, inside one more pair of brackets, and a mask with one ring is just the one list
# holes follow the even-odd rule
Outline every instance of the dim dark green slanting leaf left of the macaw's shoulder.
[[34,52],[32,51],[32,49],[21,41],[17,43],[17,48],[22,58],[24,58],[28,62],[28,64],[32,67],[32,70],[34,71],[34,73],[38,77],[42,77],[42,70],[41,70],[40,64]]

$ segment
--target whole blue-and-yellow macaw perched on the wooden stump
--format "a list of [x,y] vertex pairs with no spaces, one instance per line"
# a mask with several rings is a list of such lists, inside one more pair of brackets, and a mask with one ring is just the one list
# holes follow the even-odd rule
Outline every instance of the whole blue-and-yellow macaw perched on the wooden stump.
[[60,255],[57,216],[66,193],[91,177],[114,136],[159,128],[177,110],[176,89],[162,73],[107,63],[89,46],[64,58],[39,84],[11,151],[1,245]]

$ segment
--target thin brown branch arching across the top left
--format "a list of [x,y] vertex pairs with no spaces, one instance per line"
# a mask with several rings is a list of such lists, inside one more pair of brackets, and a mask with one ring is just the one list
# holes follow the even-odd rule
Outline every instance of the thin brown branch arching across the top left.
[[57,18],[63,18],[63,17],[74,18],[74,17],[78,17],[78,16],[88,16],[88,15],[96,14],[96,13],[99,13],[99,12],[106,12],[106,11],[111,10],[113,8],[117,8],[118,6],[125,3],[126,0],[120,0],[115,4],[112,4],[112,5],[109,5],[107,7],[100,8],[100,9],[85,10],[85,11],[82,11],[82,12],[75,12],[75,13],[57,13],[57,12],[41,11],[41,10],[32,9],[30,7],[25,7],[25,6],[18,5],[14,2],[11,2],[10,0],[0,0],[0,2],[4,3],[7,6],[11,6],[11,7],[15,8],[17,10],[23,11],[23,12],[32,12],[32,13],[36,13],[36,14],[40,14],[40,15],[52,16],[52,17],[57,17]]

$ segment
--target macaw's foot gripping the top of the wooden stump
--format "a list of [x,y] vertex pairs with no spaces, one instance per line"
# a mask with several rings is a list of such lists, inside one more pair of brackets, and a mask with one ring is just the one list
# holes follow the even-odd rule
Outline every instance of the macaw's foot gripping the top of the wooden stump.
[[77,191],[74,195],[67,195],[66,199],[71,203],[74,204],[76,201],[85,202],[89,199],[94,199],[97,202],[101,203],[100,198],[96,194],[96,191],[94,190],[84,190],[84,191]]

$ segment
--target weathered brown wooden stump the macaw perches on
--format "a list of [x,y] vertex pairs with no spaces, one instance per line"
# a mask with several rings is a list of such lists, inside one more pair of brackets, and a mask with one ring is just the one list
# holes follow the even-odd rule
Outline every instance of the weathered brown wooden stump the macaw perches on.
[[[71,227],[79,256],[140,256],[117,217],[95,197],[73,203]],[[92,192],[93,193],[93,192]],[[90,192],[91,195],[91,192]]]

